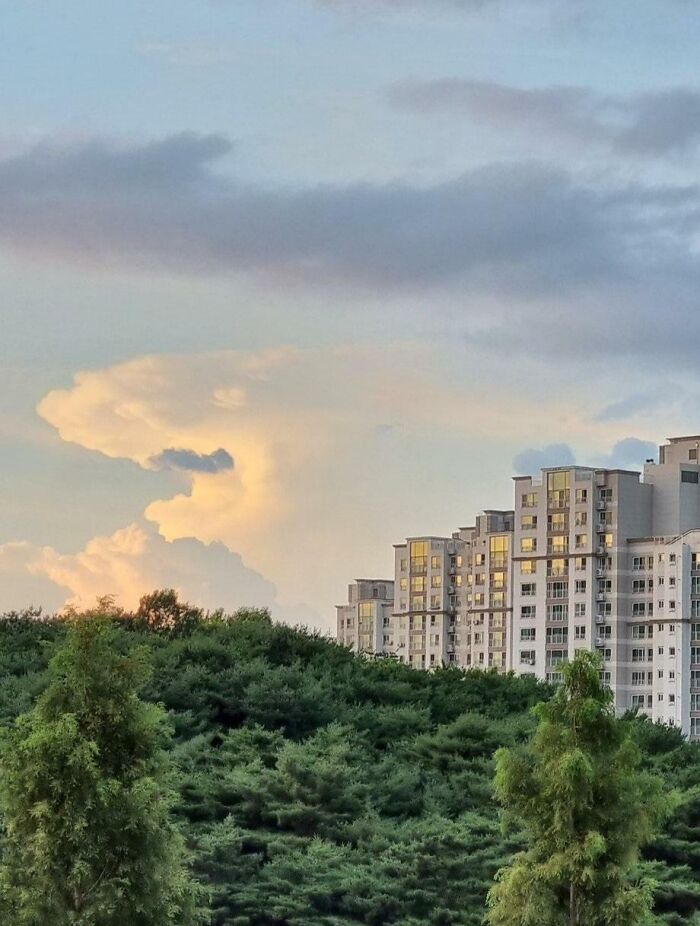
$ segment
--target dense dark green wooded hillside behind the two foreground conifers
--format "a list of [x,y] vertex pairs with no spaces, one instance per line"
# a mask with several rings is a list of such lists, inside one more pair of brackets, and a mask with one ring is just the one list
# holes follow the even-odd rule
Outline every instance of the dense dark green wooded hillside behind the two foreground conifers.
[[[522,847],[493,799],[493,756],[524,743],[549,689],[531,678],[370,661],[264,612],[202,620],[149,596],[103,602],[114,646],[146,645],[141,696],[168,712],[174,812],[215,926],[477,926]],[[179,606],[178,606],[179,607]],[[48,683],[65,624],[0,621],[0,724]],[[647,851],[657,923],[700,924],[700,753],[630,720],[681,801]]]

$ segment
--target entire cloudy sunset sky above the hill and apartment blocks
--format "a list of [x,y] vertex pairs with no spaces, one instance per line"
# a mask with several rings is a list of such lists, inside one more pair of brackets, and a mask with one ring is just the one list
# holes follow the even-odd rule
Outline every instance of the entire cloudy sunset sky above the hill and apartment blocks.
[[334,625],[700,430],[692,0],[0,2],[0,610]]

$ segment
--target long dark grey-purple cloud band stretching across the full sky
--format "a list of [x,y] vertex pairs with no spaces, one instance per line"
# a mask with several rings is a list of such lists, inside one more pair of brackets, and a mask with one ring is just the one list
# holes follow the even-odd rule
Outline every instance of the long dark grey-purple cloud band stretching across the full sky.
[[0,245],[99,267],[520,301],[667,281],[697,290],[697,189],[596,189],[534,163],[433,186],[242,185],[218,135],[37,145],[0,160]]

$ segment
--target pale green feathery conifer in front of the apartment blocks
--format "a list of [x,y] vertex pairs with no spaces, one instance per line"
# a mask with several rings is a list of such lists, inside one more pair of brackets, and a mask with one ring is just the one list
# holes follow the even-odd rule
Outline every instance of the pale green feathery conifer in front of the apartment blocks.
[[615,718],[599,669],[580,653],[535,709],[530,743],[496,753],[496,796],[527,848],[489,893],[491,926],[635,926],[649,913],[651,886],[630,871],[672,798],[639,771],[630,725]]

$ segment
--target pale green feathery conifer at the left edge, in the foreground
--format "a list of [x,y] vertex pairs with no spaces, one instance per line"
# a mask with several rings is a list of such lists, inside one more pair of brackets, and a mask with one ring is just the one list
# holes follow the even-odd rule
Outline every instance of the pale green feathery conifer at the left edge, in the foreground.
[[70,621],[34,709],[2,740],[3,922],[190,926],[195,889],[169,819],[164,712],[137,695],[144,651]]

